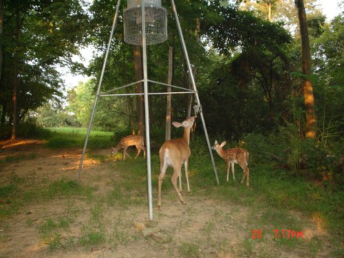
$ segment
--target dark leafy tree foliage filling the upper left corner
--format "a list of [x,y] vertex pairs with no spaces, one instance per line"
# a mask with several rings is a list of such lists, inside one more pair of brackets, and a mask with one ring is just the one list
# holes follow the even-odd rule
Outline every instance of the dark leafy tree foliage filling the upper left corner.
[[[78,0],[5,1],[1,31],[1,123],[9,123],[17,84],[18,120],[63,96],[56,65],[74,65],[87,34],[87,14]],[[20,76],[18,76],[18,74]],[[5,76],[6,75],[6,76]]]

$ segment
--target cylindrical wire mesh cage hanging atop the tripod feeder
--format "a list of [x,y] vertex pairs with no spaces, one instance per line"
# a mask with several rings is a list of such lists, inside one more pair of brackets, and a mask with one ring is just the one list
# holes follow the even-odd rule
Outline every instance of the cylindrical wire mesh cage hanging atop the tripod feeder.
[[[146,25],[146,44],[158,44],[167,39],[166,9],[161,0],[144,0],[144,18]],[[123,13],[125,42],[142,45],[141,1],[127,0],[127,9]]]

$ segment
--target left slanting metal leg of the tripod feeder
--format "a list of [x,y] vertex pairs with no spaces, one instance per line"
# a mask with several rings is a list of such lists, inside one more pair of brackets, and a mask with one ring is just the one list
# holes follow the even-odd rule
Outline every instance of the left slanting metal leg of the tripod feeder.
[[115,30],[115,26],[116,26],[116,20],[117,20],[118,10],[119,10],[119,9],[120,9],[120,0],[117,1],[117,7],[116,7],[116,12],[115,12],[114,22],[112,23],[112,28],[111,28],[109,43],[107,43],[107,52],[106,52],[106,54],[105,54],[104,63],[103,63],[103,69],[102,69],[102,72],[101,72],[100,78],[99,78],[99,84],[98,84],[96,99],[94,100],[94,105],[93,105],[93,109],[92,109],[91,120],[89,120],[89,126],[88,126],[88,129],[87,129],[87,135],[86,135],[86,140],[85,140],[85,144],[84,144],[84,148],[83,148],[83,154],[81,155],[80,164],[79,164],[79,169],[78,169],[78,178],[77,178],[77,181],[80,180],[80,173],[81,173],[81,170],[83,169],[83,161],[84,161],[84,158],[85,158],[85,153],[86,153],[86,147],[87,147],[87,142],[88,142],[88,138],[89,138],[89,133],[90,133],[91,127],[92,127],[92,122],[93,122],[93,118],[94,118],[94,113],[95,113],[95,111],[96,111],[96,105],[97,105],[97,103],[98,103],[98,97],[99,97],[100,87],[101,87],[102,82],[103,82],[103,76],[104,76],[105,67],[106,67],[106,63],[107,63],[107,57],[109,56],[110,45],[111,45],[111,39],[112,39],[112,36],[114,35],[114,30]]

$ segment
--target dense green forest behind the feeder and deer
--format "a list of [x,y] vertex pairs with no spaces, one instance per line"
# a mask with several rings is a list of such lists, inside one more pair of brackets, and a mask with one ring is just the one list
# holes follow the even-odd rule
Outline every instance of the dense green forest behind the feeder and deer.
[[[117,1],[1,0],[0,137],[50,137],[50,127],[87,127]],[[295,1],[297,3],[299,1]],[[249,144],[290,171],[319,178],[343,169],[343,12],[326,21],[316,1],[305,1],[310,73],[302,66],[301,33],[294,1],[177,1],[186,47],[211,139]],[[151,80],[191,87],[168,1],[168,41],[148,47]],[[126,6],[126,1],[121,8]],[[343,8],[343,1],[341,6]],[[121,12],[122,10],[120,10]],[[123,41],[122,17],[102,84],[105,92],[142,78],[140,47]],[[73,61],[92,46],[89,66]],[[66,89],[58,67],[89,76]],[[172,73],[169,74],[169,67]],[[303,83],[314,92],[314,136],[307,137]],[[135,92],[142,91],[136,85]],[[150,91],[165,90],[150,84]],[[150,98],[151,138],[164,141],[166,96]],[[173,96],[171,120],[193,114],[194,100]],[[143,133],[140,98],[101,98],[93,128],[118,139]],[[174,131],[172,131],[174,133]],[[202,127],[195,135],[202,141]],[[212,140],[213,141],[213,140]]]

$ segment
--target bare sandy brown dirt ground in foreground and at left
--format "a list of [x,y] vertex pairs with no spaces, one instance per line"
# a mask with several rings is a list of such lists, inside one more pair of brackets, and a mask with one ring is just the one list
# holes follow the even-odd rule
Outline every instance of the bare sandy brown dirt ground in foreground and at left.
[[[76,180],[81,149],[56,151],[45,148],[44,142],[38,140],[19,140],[14,144],[1,142],[0,160],[18,153],[33,155],[33,158],[8,162],[0,167],[0,186],[9,184],[14,177],[25,180],[25,185],[42,187],[62,178]],[[98,151],[98,154],[108,153],[109,150]],[[116,171],[109,171],[106,162],[86,158],[80,182],[96,187],[97,194],[102,195],[113,188],[111,182],[114,182],[114,177],[120,176]],[[148,220],[148,208],[147,204],[139,203],[124,209],[116,206],[105,208],[105,231],[114,235],[117,244],[100,244],[94,248],[74,245],[73,248],[50,251],[39,233],[39,226],[45,219],[73,215],[74,220],[69,229],[61,233],[61,239],[76,239],[82,235],[89,221],[91,206],[94,206],[78,197],[61,198],[25,205],[18,214],[4,219],[0,223],[0,257],[310,257],[308,250],[302,248],[276,248],[272,233],[264,241],[253,241],[248,207],[193,193],[187,195],[187,205],[183,206],[171,192],[164,197],[163,208],[158,211],[154,205],[156,193],[153,193],[153,198],[155,228],[158,228],[162,240],[142,237],[140,225]],[[28,221],[32,222],[31,226],[28,226]],[[316,223],[310,222],[309,228],[304,228],[301,241],[310,241],[316,236],[324,238],[325,234]],[[330,257],[330,244],[316,257]]]

